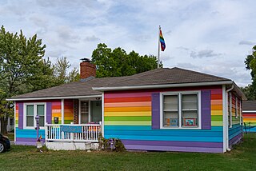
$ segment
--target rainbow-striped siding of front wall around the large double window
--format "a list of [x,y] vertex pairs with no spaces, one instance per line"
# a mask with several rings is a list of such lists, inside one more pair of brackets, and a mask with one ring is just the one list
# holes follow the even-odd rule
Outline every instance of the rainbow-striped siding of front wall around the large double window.
[[210,129],[152,129],[151,95],[161,90],[106,92],[104,136],[120,138],[126,149],[222,153],[222,89],[206,90]]

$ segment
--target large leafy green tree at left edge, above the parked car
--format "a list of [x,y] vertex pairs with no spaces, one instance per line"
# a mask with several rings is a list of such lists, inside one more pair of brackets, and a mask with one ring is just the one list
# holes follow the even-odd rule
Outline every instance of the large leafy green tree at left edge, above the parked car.
[[50,87],[53,68],[49,60],[42,57],[46,45],[34,34],[26,38],[22,34],[0,30],[0,119],[1,131],[6,133],[7,118],[13,116],[13,104],[6,98],[36,89]]

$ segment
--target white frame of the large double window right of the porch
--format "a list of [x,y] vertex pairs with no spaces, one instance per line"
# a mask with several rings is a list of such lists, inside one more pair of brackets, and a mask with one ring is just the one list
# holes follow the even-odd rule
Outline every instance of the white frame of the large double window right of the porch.
[[[198,127],[182,127],[182,94],[198,94]],[[164,127],[163,123],[163,97],[166,95],[178,95],[178,127]],[[160,93],[160,129],[202,129],[201,125],[201,91],[175,91]]]

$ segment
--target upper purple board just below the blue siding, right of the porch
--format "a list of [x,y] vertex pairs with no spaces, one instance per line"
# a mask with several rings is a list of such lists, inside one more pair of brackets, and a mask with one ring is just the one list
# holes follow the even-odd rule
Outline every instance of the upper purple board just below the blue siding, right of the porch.
[[154,145],[154,146],[183,146],[222,148],[222,142],[193,142],[193,141],[137,141],[122,140],[124,145]]

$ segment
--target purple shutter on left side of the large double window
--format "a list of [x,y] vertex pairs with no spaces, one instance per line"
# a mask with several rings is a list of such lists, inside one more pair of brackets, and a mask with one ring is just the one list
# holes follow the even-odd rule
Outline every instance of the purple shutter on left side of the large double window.
[[160,129],[160,93],[152,93],[152,129]]

